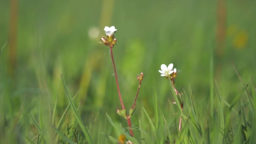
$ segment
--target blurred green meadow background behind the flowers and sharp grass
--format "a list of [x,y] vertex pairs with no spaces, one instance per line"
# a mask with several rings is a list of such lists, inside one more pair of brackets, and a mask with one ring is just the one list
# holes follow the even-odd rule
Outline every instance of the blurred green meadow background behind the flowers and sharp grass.
[[125,107],[144,72],[134,125],[142,106],[152,115],[153,93],[169,107],[161,64],[173,63],[176,88],[190,84],[196,103],[208,108],[213,59],[213,78],[231,101],[242,89],[233,65],[245,83],[256,84],[255,7],[255,0],[1,0],[1,139],[35,136],[29,113],[47,121],[57,97],[61,116],[68,104],[61,74],[91,133],[112,131],[106,112],[126,125],[115,113],[121,106],[109,48],[98,43],[105,26],[117,29],[113,51]]

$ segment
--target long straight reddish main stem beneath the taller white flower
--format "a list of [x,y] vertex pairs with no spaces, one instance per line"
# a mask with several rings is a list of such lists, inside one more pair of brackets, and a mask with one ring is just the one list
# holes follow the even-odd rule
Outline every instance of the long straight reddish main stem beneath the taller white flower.
[[[123,104],[123,100],[122,100],[122,97],[121,97],[121,93],[120,93],[120,88],[119,88],[119,83],[118,83],[118,78],[117,78],[117,70],[115,68],[115,61],[114,61],[114,56],[113,56],[113,46],[109,46],[110,48],[110,54],[111,54],[111,59],[112,59],[112,64],[113,64],[113,67],[114,67],[114,72],[115,72],[115,81],[117,83],[117,92],[118,92],[118,96],[119,96],[119,99],[120,99],[120,103],[122,105],[122,109],[125,109],[125,106]],[[128,126],[129,127],[132,127],[131,125],[131,119],[130,117],[126,114],[126,118],[127,118],[127,122],[128,122]],[[129,131],[130,131],[130,135],[133,137],[133,130],[131,128],[129,128]]]

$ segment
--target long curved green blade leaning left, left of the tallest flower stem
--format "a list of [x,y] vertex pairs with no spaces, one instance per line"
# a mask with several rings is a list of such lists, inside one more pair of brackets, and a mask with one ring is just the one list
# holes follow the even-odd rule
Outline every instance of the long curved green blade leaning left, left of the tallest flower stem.
[[83,133],[84,133],[84,135],[85,135],[85,137],[86,137],[88,143],[89,143],[89,144],[93,144],[93,141],[92,141],[92,139],[91,139],[91,136],[89,135],[88,131],[85,129],[85,125],[83,124],[83,121],[82,121],[80,115],[79,115],[78,112],[77,112],[77,109],[76,109],[76,107],[75,107],[74,101],[72,100],[71,96],[69,95],[69,92],[68,92],[68,90],[67,90],[67,85],[66,85],[66,83],[65,83],[64,78],[63,78],[62,75],[61,75],[61,79],[62,79],[64,88],[65,88],[67,97],[68,97],[68,99],[69,99],[69,103],[70,103],[70,105],[71,105],[71,107],[72,107],[72,110],[73,110],[73,112],[74,112],[74,114],[75,114],[75,117],[76,117],[76,119],[77,119],[77,122],[78,122],[78,124],[80,125],[80,128],[82,129],[82,131],[83,131]]

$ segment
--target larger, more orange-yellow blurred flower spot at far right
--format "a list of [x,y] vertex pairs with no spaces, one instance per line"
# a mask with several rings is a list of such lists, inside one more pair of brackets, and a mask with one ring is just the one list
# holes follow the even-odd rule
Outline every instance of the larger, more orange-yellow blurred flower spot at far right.
[[236,49],[243,49],[245,48],[245,45],[247,44],[247,42],[248,42],[248,33],[245,30],[239,31],[237,32],[237,34],[233,39],[233,46]]

